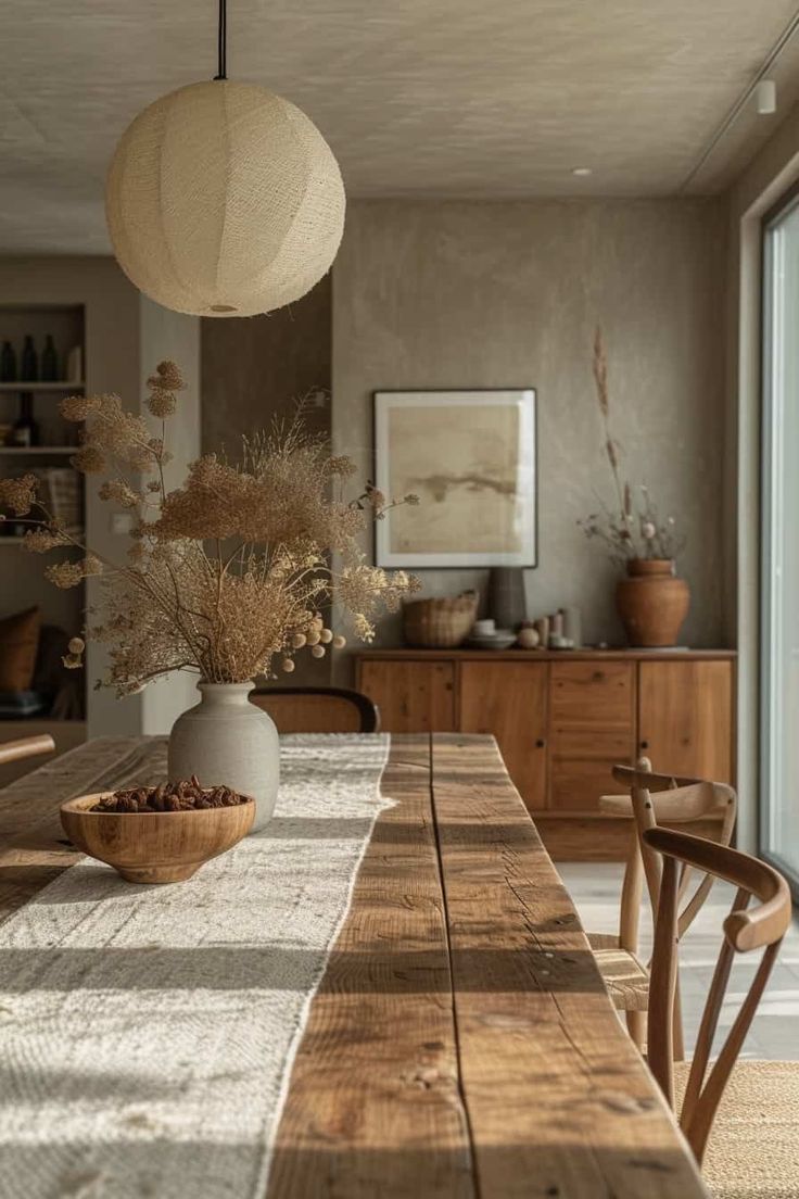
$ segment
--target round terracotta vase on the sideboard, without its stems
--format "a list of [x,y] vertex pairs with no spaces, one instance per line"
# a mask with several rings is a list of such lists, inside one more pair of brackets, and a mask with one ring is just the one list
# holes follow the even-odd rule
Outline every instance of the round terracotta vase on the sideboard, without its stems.
[[691,592],[674,574],[674,564],[667,558],[634,558],[627,573],[616,588],[616,607],[630,645],[677,645]]

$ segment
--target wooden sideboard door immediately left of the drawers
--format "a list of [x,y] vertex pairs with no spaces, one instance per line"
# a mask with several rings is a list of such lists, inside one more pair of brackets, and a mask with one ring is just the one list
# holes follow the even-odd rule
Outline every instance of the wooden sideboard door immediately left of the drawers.
[[462,662],[460,731],[492,733],[531,812],[546,807],[546,662]]

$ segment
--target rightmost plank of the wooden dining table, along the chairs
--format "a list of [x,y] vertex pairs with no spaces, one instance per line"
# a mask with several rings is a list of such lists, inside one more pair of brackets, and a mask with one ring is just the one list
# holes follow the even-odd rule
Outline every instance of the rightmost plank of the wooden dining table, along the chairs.
[[434,737],[432,791],[479,1194],[706,1194],[494,741]]

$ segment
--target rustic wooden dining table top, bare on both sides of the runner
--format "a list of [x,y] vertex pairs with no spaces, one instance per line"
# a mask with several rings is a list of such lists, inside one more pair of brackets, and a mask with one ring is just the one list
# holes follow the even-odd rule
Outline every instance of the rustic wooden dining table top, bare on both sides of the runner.
[[[79,858],[59,805],[152,775],[98,739],[0,791],[0,923]],[[698,1199],[491,737],[392,736],[277,1126],[270,1199]]]

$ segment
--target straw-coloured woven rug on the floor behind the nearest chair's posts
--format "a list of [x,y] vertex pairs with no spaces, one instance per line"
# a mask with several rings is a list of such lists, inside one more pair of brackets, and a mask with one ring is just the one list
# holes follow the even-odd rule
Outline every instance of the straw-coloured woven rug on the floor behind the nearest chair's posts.
[[[682,1108],[689,1062],[674,1062]],[[738,1060],[704,1152],[702,1177],[713,1199],[799,1195],[799,1061]]]

